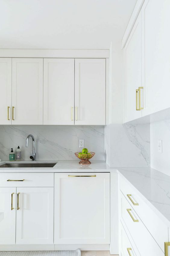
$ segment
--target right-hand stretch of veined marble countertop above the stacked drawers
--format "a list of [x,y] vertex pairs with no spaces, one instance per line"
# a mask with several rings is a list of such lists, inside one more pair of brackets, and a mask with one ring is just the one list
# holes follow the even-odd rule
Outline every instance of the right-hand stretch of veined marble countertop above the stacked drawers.
[[117,168],[170,227],[170,176],[152,168]]

